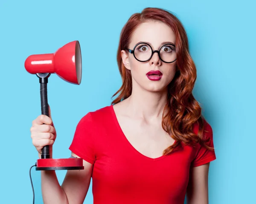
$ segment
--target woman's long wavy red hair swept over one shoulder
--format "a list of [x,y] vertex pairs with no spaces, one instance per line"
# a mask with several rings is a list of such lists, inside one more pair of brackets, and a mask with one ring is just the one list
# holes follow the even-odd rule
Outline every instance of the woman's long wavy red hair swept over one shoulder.
[[[172,136],[176,142],[163,151],[164,155],[170,154],[181,142],[183,144],[201,144],[209,147],[203,134],[206,121],[201,115],[201,107],[192,95],[196,80],[195,64],[189,54],[189,45],[186,31],[178,18],[172,12],[161,8],[145,8],[141,13],[133,14],[122,28],[117,51],[117,63],[122,77],[122,86],[113,95],[119,96],[113,100],[112,105],[131,96],[132,79],[131,71],[126,69],[122,62],[121,51],[128,48],[131,36],[140,23],[160,21],[169,25],[176,36],[177,71],[174,79],[168,85],[168,99],[163,111],[163,129]],[[113,97],[112,96],[112,97]],[[193,125],[198,125],[198,134],[193,131]],[[207,132],[207,131],[206,131]]]

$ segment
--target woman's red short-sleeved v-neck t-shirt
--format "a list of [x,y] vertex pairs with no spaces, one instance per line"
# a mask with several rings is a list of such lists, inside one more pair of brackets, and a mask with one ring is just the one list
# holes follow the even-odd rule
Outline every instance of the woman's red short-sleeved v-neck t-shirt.
[[[208,123],[206,130],[212,139]],[[94,204],[183,204],[189,169],[216,159],[213,150],[199,144],[156,159],[144,156],[126,139],[112,105],[79,121],[69,149],[93,164]]]

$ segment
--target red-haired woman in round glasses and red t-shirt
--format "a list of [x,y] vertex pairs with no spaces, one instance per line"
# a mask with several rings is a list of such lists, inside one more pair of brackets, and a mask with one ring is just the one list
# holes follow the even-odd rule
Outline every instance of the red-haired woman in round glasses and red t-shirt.
[[[185,195],[207,204],[212,128],[192,96],[196,69],[182,24],[159,8],[132,15],[117,61],[119,96],[87,113],[70,145],[84,170],[68,170],[61,186],[54,171],[42,171],[44,203],[81,204],[92,177],[95,204],[181,204]],[[55,141],[52,119],[38,116],[31,135],[40,156]]]

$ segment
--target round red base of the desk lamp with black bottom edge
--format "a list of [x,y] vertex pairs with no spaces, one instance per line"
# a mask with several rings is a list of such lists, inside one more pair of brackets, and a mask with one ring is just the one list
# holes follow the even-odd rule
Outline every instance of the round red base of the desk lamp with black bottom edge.
[[83,170],[82,158],[38,159],[35,170]]

